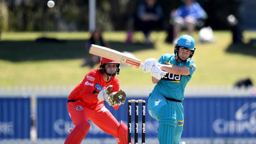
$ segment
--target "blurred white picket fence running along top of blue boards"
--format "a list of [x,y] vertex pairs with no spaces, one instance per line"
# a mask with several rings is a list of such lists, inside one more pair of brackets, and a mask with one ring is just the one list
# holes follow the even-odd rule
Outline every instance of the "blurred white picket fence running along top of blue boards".
[[[75,86],[0,86],[0,96],[69,96]],[[122,87],[129,96],[148,96],[153,86]],[[188,86],[187,96],[256,96],[256,87]]]

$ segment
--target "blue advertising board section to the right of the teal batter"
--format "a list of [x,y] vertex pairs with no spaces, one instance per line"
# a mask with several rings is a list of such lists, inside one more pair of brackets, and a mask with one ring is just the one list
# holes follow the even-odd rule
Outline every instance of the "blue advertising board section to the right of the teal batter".
[[256,137],[255,97],[185,98],[182,137]]

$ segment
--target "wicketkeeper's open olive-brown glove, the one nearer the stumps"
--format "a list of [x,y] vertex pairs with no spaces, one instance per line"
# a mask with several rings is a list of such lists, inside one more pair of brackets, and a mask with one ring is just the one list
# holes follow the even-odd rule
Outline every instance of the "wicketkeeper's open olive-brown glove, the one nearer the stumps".
[[113,92],[110,94],[111,105],[121,105],[125,103],[126,93],[121,89],[118,92]]

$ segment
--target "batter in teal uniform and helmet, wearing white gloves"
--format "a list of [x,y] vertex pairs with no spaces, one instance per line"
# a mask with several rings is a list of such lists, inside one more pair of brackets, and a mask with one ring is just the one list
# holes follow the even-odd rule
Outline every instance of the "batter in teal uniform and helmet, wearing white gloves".
[[[195,41],[189,35],[182,35],[174,46],[174,54],[163,54],[157,61],[147,59],[143,72],[150,72],[156,86],[149,94],[148,113],[158,120],[160,144],[185,144],[180,142],[184,124],[184,89],[195,72],[191,60],[195,52]],[[167,72],[165,76],[161,71]],[[186,123],[186,122],[185,122]]]

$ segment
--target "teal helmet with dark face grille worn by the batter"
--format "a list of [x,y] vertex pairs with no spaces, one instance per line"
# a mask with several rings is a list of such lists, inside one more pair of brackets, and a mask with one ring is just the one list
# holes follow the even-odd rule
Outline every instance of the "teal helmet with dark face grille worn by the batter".
[[[184,48],[186,50],[191,50],[191,54],[189,55],[188,58],[191,59],[191,57],[195,53],[195,40],[193,37],[190,35],[182,35],[178,39],[177,43],[174,45],[174,54],[177,55],[178,59],[180,59],[178,53],[179,53],[179,48]],[[182,60],[184,61],[184,60]]]

